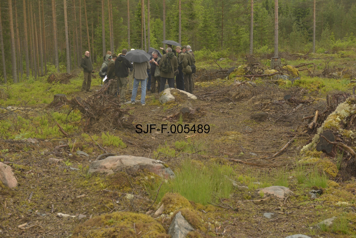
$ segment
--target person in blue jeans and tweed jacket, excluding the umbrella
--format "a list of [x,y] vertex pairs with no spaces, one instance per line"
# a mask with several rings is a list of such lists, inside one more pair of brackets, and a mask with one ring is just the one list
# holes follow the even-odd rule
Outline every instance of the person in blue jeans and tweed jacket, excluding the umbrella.
[[151,68],[150,62],[145,61],[142,63],[133,62],[133,89],[132,89],[132,96],[131,96],[131,103],[135,104],[138,84],[141,83],[141,105],[146,105],[145,98],[146,98],[146,83],[147,83],[147,70]]

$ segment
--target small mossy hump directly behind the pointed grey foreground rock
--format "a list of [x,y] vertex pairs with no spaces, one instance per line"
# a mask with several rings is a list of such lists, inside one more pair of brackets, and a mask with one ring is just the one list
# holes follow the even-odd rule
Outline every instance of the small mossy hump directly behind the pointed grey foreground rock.
[[187,198],[178,193],[166,193],[159,206],[164,205],[164,214],[170,214],[177,211],[179,208],[192,208],[192,205]]

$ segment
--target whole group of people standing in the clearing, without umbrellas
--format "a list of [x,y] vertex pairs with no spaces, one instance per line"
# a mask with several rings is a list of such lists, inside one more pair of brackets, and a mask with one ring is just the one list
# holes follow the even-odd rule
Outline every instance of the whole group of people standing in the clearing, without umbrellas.
[[[119,55],[110,51],[106,52],[99,74],[103,75],[106,69],[105,83],[110,79],[116,81],[110,84],[110,95],[119,95],[120,101],[126,102],[126,94],[131,94],[131,103],[135,104],[137,89],[141,84],[141,105],[145,105],[146,88],[151,93],[156,93],[156,89],[157,92],[162,92],[166,83],[170,88],[174,88],[174,77],[177,89],[193,93],[194,72],[192,69],[195,68],[195,57],[191,47],[189,45],[177,46],[173,49],[172,45],[167,46],[166,50],[161,47],[162,57],[154,51],[151,59],[142,63],[127,60],[126,49],[123,49]],[[91,92],[91,74],[95,72],[89,55],[89,51],[86,51],[80,64],[84,71],[82,91],[87,92]]]

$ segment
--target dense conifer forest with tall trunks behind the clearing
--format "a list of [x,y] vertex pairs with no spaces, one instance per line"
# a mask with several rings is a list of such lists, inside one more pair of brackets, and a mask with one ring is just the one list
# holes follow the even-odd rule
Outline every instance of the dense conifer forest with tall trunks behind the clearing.
[[[102,63],[103,52],[110,49],[120,53],[122,48],[163,47],[163,8],[165,38],[179,40],[178,0],[2,0],[0,7],[4,45],[0,62],[5,59],[6,68],[0,67],[2,82],[6,78],[20,82],[51,70],[69,72],[79,67],[89,45],[94,63]],[[193,51],[248,53],[250,7],[251,0],[182,0],[182,45]],[[278,15],[279,51],[309,52],[313,0],[279,0]],[[253,53],[272,52],[274,0],[255,1],[253,21]],[[316,53],[351,46],[355,34],[355,0],[316,1]]]

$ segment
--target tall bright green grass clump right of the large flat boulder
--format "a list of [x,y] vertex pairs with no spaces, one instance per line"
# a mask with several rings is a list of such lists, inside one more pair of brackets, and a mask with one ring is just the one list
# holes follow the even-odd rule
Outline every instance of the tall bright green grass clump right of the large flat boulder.
[[[230,166],[208,165],[203,166],[194,161],[184,161],[176,177],[163,182],[159,190],[157,201],[161,201],[166,192],[175,192],[187,198],[189,201],[208,205],[214,198],[227,198],[232,191],[232,183],[229,177],[232,173]],[[161,181],[148,181],[147,191],[154,199]]]

